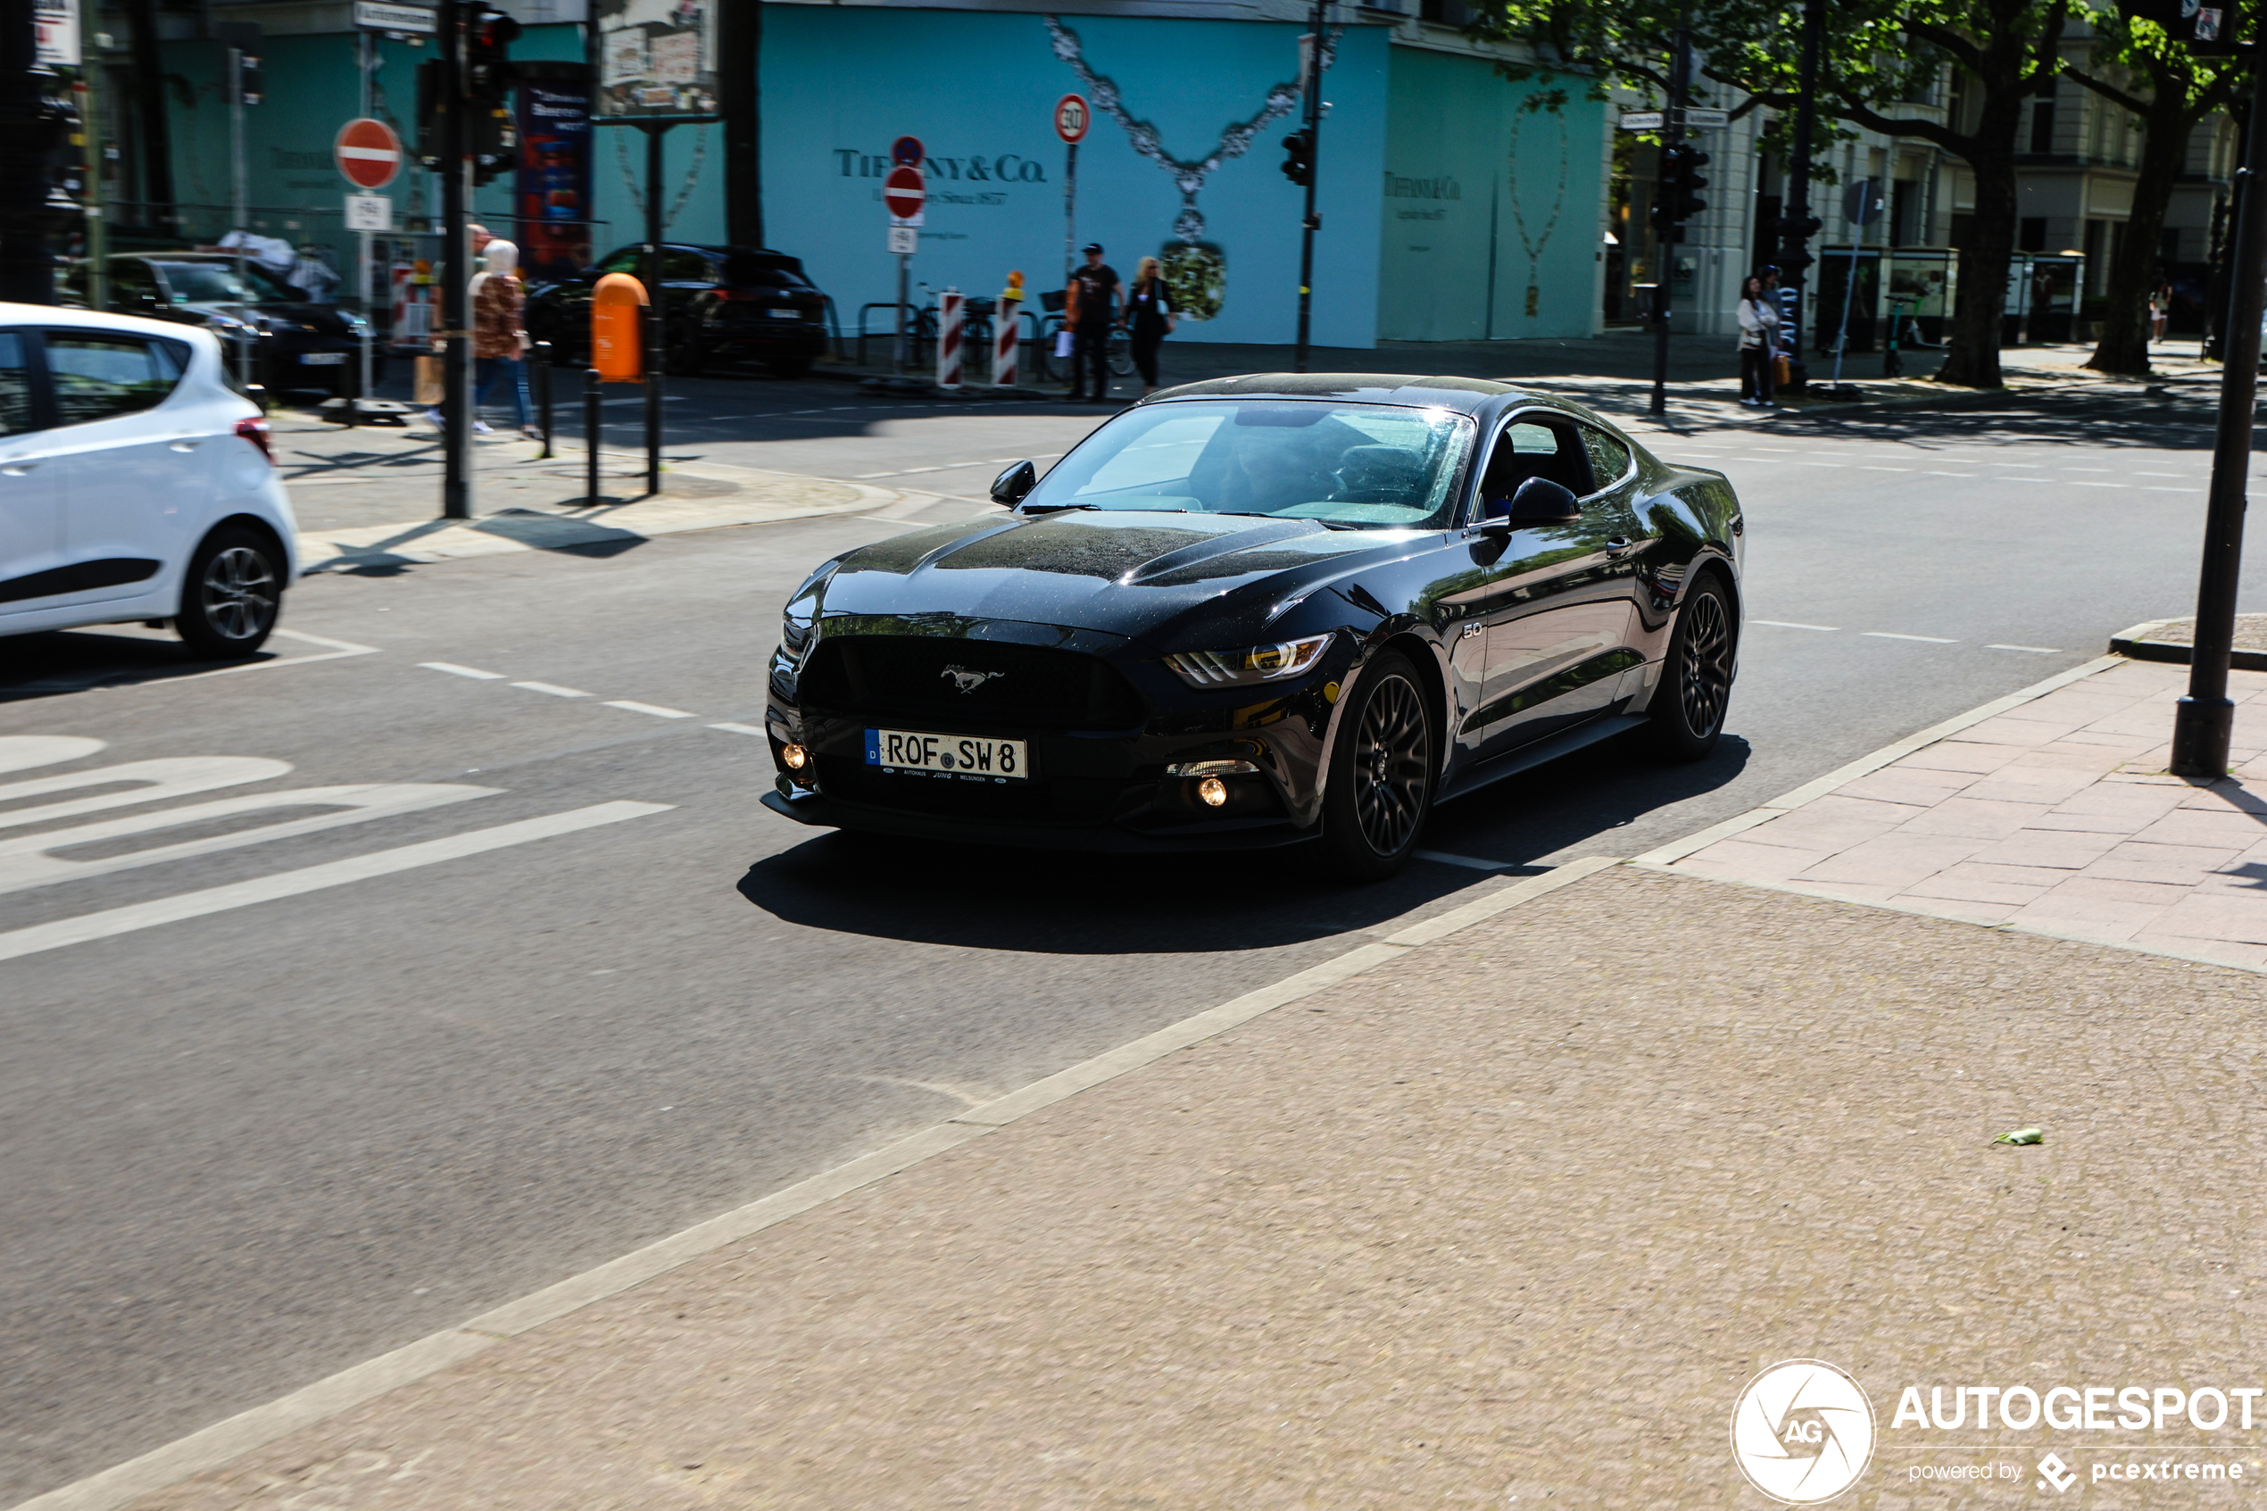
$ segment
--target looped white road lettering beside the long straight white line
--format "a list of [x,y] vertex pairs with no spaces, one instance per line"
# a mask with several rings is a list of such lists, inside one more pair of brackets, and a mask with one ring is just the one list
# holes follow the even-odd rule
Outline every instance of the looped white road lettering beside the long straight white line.
[[[338,829],[340,825],[358,825],[372,818],[392,818],[394,813],[438,809],[449,802],[465,802],[467,797],[490,797],[496,791],[501,788],[462,786],[453,782],[363,782],[356,786],[302,786],[288,793],[222,797],[218,802],[197,802],[186,809],[159,809],[156,813],[136,813],[131,818],[104,818],[91,825],[79,825],[75,829],[48,829],[45,834],[25,834],[11,840],[0,840],[0,893],[20,893],[25,888],[50,886],[54,881],[77,881],[82,877],[107,877],[113,870],[134,870],[136,865],[184,861],[188,856],[213,854],[218,850],[238,850],[243,845],[263,845],[268,840],[281,840],[295,834],[315,834],[320,829]],[[181,840],[179,845],[154,845],[150,850],[129,850],[125,854],[100,856],[88,861],[70,861],[66,856],[54,854],[57,850],[77,850],[79,845],[100,845],[102,840],[129,838],[136,834],[154,834],[161,829],[179,829],[186,825],[204,825],[222,818],[261,813],[268,809],[311,809],[311,806],[326,806],[338,811],[315,813],[308,818],[286,818],[281,822],[261,825],[256,829],[236,829],[234,834],[211,834],[202,840]]]

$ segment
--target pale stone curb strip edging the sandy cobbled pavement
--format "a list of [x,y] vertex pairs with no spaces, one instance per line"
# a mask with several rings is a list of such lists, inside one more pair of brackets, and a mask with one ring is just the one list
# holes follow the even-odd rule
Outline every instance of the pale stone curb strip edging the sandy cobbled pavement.
[[190,1475],[222,1468],[231,1459],[238,1459],[254,1448],[274,1443],[299,1427],[313,1427],[315,1423],[340,1416],[367,1400],[385,1395],[388,1391],[438,1375],[456,1364],[487,1352],[490,1348],[496,1348],[499,1343],[508,1343],[542,1323],[578,1312],[596,1300],[619,1296],[621,1291],[644,1284],[655,1275],[664,1275],[680,1264],[689,1264],[691,1260],[714,1253],[725,1244],[737,1244],[762,1232],[764,1228],[773,1228],[791,1217],[825,1205],[837,1196],[848,1196],[850,1192],[868,1187],[877,1180],[886,1180],[902,1169],[911,1169],[923,1160],[945,1153],[948,1149],[959,1149],[961,1144],[979,1139],[988,1133],[997,1133],[1031,1112],[1077,1096],[1079,1092],[1106,1081],[1115,1081],[1118,1076],[1140,1069],[1143,1065],[1161,1060],[1179,1049],[1202,1044],[1204,1040],[1226,1033],[1238,1024],[1247,1024],[1254,1017],[1274,1013],[1281,1006],[1313,997],[1315,992],[1333,988],[1340,981],[1349,981],[1362,972],[1376,970],[1378,965],[1399,961],[1410,949],[1433,945],[1435,940],[1449,938],[1460,929],[1469,929],[1471,924],[1517,908],[1519,904],[1532,902],[1546,893],[1555,893],[1571,881],[1580,881],[1582,877],[1612,865],[1621,865],[1621,861],[1616,856],[1587,856],[1569,861],[1566,865],[1548,870],[1539,877],[1526,877],[1476,902],[1467,902],[1460,908],[1449,908],[1437,917],[1406,924],[1385,938],[1372,938],[1367,945],[1358,945],[1338,958],[1324,961],[1322,965],[1310,965],[1308,970],[1285,976],[1274,985],[1263,985],[1256,992],[1245,992],[1242,997],[1224,1001],[1215,1008],[1183,1017],[1181,1022],[1158,1028],[1156,1033],[1147,1033],[1090,1060],[1081,1060],[1079,1065],[1061,1069],[1052,1076],[1043,1076],[1009,1092],[1007,1096],[968,1108],[959,1117],[950,1117],[941,1124],[923,1128],[920,1133],[884,1144],[882,1149],[859,1155],[848,1164],[837,1164],[830,1171],[798,1180],[796,1185],[773,1192],[771,1196],[753,1201],[744,1207],[735,1207],[732,1212],[712,1217],[705,1223],[696,1223],[655,1244],[635,1248],[619,1260],[598,1264],[596,1269],[560,1280],[558,1284],[544,1287],[530,1296],[508,1300],[501,1307],[492,1307],[456,1328],[431,1332],[374,1359],[342,1368],[336,1375],[290,1391],[288,1395],[270,1400],[261,1407],[238,1411],[236,1416],[218,1420],[211,1427],[175,1439],[163,1448],[154,1448],[136,1459],[127,1459],[125,1463],[88,1475],[86,1479],[34,1495],[32,1500],[18,1502],[9,1511],[116,1511],[116,1506],[143,1495],[154,1495],[156,1491],[179,1484]]

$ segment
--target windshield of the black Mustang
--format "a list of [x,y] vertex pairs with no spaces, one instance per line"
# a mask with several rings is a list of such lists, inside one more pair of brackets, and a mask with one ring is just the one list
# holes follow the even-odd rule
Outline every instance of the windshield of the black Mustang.
[[1440,528],[1469,449],[1471,419],[1451,410],[1328,399],[1154,403],[1086,437],[1022,507]]

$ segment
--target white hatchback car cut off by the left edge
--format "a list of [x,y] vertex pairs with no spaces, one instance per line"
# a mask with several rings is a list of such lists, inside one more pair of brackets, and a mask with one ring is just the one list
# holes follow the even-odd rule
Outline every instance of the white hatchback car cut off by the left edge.
[[190,650],[252,655],[295,532],[213,335],[0,304],[0,634],[170,621]]

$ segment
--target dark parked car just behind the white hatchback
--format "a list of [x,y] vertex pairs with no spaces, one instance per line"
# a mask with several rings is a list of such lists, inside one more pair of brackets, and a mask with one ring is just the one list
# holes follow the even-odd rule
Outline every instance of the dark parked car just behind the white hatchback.
[[[270,392],[322,390],[354,394],[360,383],[360,349],[367,326],[354,310],[308,304],[306,294],[258,263],[245,263],[236,281],[236,258],[224,251],[120,251],[111,256],[113,315],[143,315],[204,326],[220,338],[229,372],[252,342],[252,381]],[[73,263],[63,279],[66,299],[86,304],[86,263]],[[385,351],[370,353],[370,378],[385,376]]]

